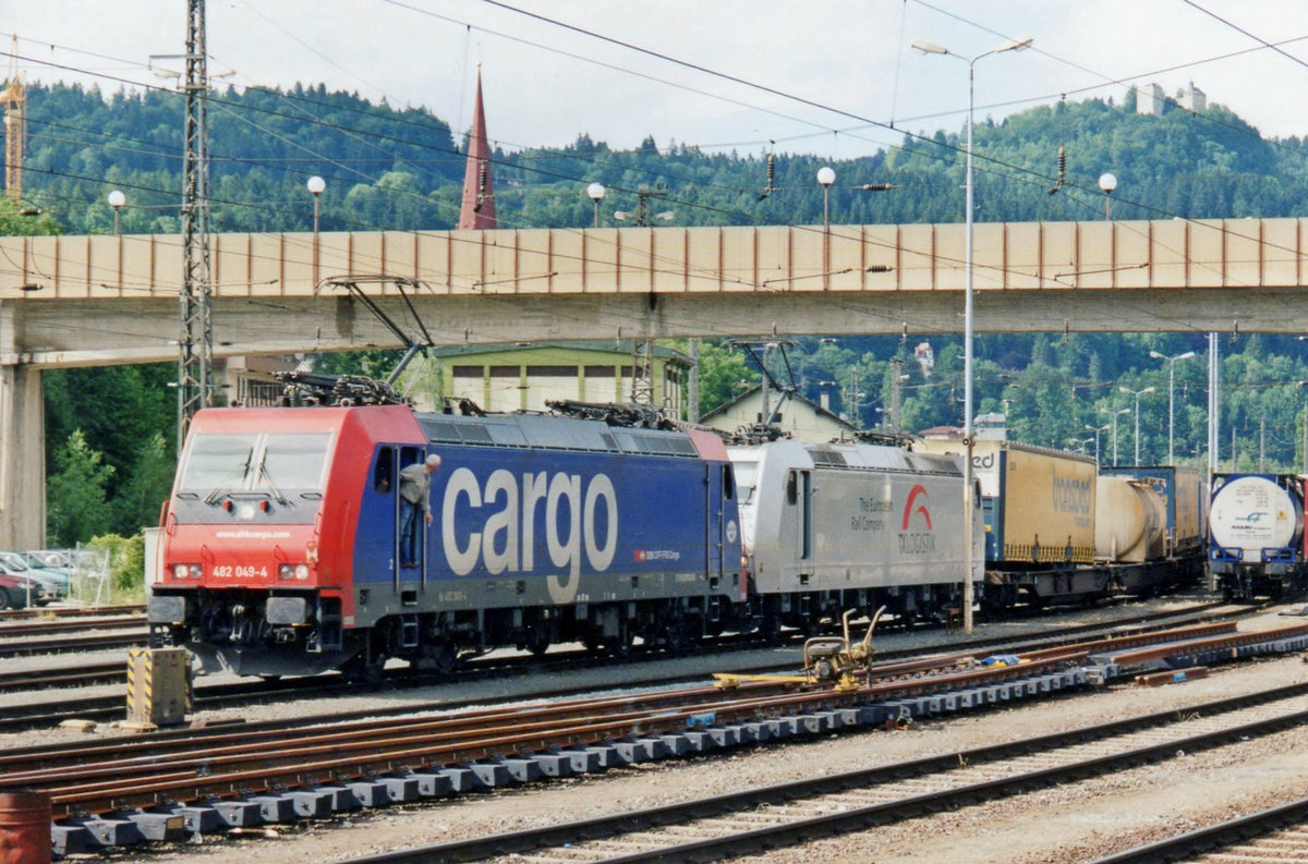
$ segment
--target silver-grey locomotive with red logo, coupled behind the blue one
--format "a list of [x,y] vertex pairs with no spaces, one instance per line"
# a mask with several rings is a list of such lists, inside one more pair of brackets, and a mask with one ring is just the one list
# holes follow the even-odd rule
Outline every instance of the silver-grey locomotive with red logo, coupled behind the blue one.
[[[744,570],[766,631],[811,630],[842,610],[904,620],[959,608],[963,465],[878,443],[773,440],[729,448],[740,494]],[[973,498],[981,579],[984,531]]]

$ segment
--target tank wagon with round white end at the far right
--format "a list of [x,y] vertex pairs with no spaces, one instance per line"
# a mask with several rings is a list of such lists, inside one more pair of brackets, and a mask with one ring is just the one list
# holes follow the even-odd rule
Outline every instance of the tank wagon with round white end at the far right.
[[1304,582],[1304,478],[1218,473],[1209,505],[1209,587],[1227,599],[1281,596]]

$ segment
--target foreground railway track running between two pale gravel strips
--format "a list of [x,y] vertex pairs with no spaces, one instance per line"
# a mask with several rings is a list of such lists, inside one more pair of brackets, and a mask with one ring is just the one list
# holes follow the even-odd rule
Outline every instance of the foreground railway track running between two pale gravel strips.
[[[604,817],[351,859],[348,864],[709,861],[976,806],[1274,735],[1308,722],[1308,685],[1278,688],[1041,739],[751,788]],[[1300,804],[1300,818],[1308,803]],[[514,860],[522,860],[515,857]],[[1142,851],[1104,863],[1175,860]]]

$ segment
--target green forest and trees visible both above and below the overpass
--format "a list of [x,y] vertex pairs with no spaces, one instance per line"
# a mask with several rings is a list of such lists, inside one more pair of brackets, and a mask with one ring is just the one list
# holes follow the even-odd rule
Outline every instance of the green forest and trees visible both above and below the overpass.
[[[0,233],[112,231],[106,195],[127,195],[123,233],[177,233],[182,169],[182,101],[171,93],[110,94],[71,86],[29,89],[25,209],[0,197]],[[490,133],[494,135],[494,106]],[[371,105],[322,86],[216,93],[208,108],[212,225],[217,231],[309,230],[309,176],[327,180],[323,230],[439,230],[458,220],[462,131],[421,110]],[[976,128],[977,218],[1101,218],[1097,178],[1118,178],[1116,218],[1305,216],[1308,144],[1262,140],[1232,112],[1173,108],[1137,115],[1131,106],[1066,102],[1014,114],[980,114]],[[916,131],[914,131],[916,132]],[[961,128],[869,129],[893,140],[875,156],[832,162],[837,224],[963,220]],[[855,132],[857,135],[857,132]],[[1065,154],[1059,171],[1059,150]],[[608,187],[602,218],[636,210],[636,191],[655,190],[668,225],[820,224],[816,156],[701,152],[646,139],[615,150],[581,132],[562,149],[497,150],[493,174],[502,227],[577,227],[594,218],[587,183]],[[888,190],[861,187],[884,184]],[[1053,191],[1052,191],[1053,190]],[[664,224],[664,222],[659,222]],[[857,325],[854,325],[857,329]],[[957,337],[802,339],[790,346],[790,378],[803,395],[828,396],[835,410],[872,427],[889,420],[899,379],[901,429],[961,422],[963,362]],[[930,345],[934,365],[918,362]],[[1222,464],[1298,469],[1304,464],[1308,380],[1304,342],[1294,336],[1223,335]],[[1031,336],[981,335],[976,408],[1005,412],[1010,437],[1131,461],[1139,416],[1141,461],[1167,459],[1168,365],[1175,363],[1177,459],[1203,464],[1207,416],[1202,333]],[[921,356],[926,356],[922,350]],[[1163,359],[1159,359],[1159,356]],[[774,359],[780,358],[773,354]],[[370,358],[374,369],[394,358]],[[360,371],[358,358],[320,358],[322,367]],[[353,365],[351,365],[353,363]],[[701,407],[738,395],[757,374],[739,353],[705,344]],[[135,533],[158,516],[173,464],[177,399],[171,365],[55,370],[46,392],[50,542],[63,545],[114,529]],[[903,375],[903,378],[900,378]],[[1127,392],[1124,392],[1124,388]],[[1152,392],[1134,396],[1146,388]],[[111,393],[111,399],[106,399]]]

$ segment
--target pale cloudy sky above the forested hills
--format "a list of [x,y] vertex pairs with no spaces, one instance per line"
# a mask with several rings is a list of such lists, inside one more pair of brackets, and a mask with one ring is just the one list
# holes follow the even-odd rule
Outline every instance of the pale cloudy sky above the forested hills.
[[[845,159],[903,131],[1194,82],[1264,136],[1308,136],[1301,0],[208,0],[209,73],[238,88],[323,82],[468,128],[477,69],[506,149],[586,133],[708,152]],[[7,8],[8,7],[8,8]],[[29,81],[175,86],[186,0],[0,0]],[[1219,20],[1224,18],[1224,21]],[[585,33],[582,33],[582,30]],[[1243,30],[1243,31],[1241,31]],[[17,35],[17,48],[10,48]],[[914,39],[952,56],[923,55]],[[1262,41],[1274,42],[1267,47]]]

